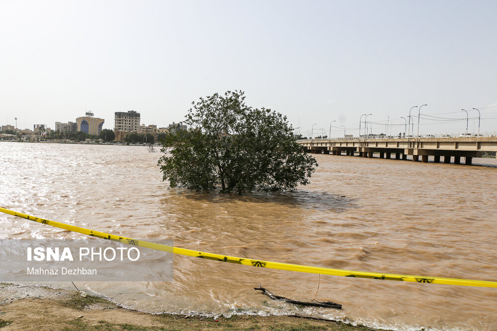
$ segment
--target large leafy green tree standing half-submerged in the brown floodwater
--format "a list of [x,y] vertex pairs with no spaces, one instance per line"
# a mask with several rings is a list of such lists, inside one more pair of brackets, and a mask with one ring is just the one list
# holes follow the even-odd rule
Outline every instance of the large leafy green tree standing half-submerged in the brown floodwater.
[[254,109],[244,92],[228,91],[193,102],[183,124],[168,135],[159,160],[170,187],[221,193],[295,190],[318,166],[295,141],[286,117]]

